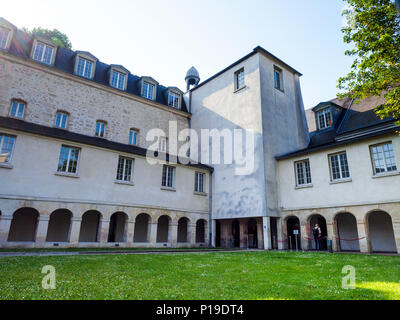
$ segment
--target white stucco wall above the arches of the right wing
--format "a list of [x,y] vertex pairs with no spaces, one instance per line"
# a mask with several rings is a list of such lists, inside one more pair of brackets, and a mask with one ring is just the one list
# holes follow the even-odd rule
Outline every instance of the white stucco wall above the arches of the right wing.
[[[280,206],[286,210],[400,201],[400,175],[376,178],[370,145],[392,141],[400,168],[400,137],[387,135],[279,161]],[[347,152],[351,181],[331,184],[328,155]],[[296,189],[294,162],[310,160],[312,185]]]

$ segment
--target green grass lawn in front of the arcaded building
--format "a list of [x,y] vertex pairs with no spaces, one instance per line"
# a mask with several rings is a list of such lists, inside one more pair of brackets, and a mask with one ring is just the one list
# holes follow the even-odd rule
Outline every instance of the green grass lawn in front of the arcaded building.
[[[53,265],[56,290],[41,287]],[[342,268],[357,271],[343,290]],[[400,257],[289,252],[0,258],[0,299],[400,299]]]

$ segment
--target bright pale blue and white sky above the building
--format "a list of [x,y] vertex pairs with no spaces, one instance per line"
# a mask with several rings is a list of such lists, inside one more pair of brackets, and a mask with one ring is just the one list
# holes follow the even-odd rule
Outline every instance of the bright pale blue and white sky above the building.
[[206,80],[258,45],[303,73],[304,106],[338,93],[350,71],[343,0],[13,0],[1,16],[18,28],[56,28],[74,50],[138,76],[186,89],[195,66]]

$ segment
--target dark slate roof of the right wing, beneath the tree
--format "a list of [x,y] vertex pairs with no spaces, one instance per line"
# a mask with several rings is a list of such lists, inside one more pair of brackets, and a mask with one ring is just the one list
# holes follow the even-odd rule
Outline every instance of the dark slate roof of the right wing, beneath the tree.
[[[370,97],[366,101],[361,101],[358,105],[352,104],[351,99],[348,98],[343,100],[333,99],[331,101],[334,105],[339,105],[342,108],[335,127],[310,132],[310,143],[307,148],[280,155],[276,159],[283,160],[305,155],[361,139],[393,133],[398,130],[394,119],[381,119],[376,115],[375,108],[382,104],[382,100],[379,97]],[[314,112],[307,110],[307,121],[309,122],[309,127],[315,128]]]

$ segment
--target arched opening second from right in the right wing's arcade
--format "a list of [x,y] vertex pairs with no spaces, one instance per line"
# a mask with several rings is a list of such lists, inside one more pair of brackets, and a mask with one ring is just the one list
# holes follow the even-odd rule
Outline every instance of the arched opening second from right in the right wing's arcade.
[[339,213],[336,216],[336,229],[340,251],[360,251],[355,216],[348,212]]

